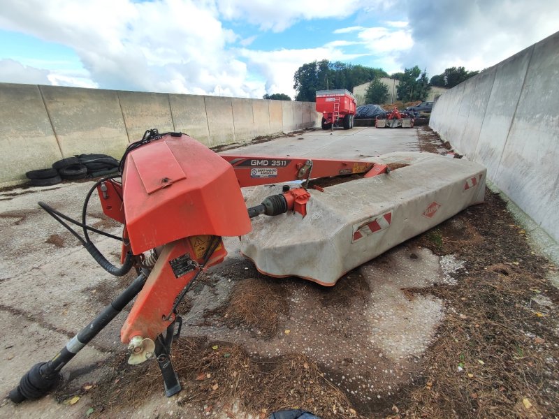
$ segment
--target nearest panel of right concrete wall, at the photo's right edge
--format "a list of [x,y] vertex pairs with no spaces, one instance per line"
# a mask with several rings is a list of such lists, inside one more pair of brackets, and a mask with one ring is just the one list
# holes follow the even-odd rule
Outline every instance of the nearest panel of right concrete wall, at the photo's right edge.
[[559,34],[534,45],[495,178],[559,241]]

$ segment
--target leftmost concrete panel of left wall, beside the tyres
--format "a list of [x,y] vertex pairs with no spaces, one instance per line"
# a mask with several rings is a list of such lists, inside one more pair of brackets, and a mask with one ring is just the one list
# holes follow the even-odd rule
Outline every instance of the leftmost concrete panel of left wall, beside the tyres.
[[4,84],[0,89],[0,182],[17,184],[29,170],[50,168],[62,158],[38,86]]

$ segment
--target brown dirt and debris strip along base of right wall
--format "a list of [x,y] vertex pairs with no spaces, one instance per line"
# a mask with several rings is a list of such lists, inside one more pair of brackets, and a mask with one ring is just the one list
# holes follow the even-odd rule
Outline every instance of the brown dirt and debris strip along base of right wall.
[[[553,417],[559,408],[559,293],[546,281],[555,269],[535,255],[505,203],[486,203],[412,240],[465,260],[456,285],[429,293],[446,302],[439,338],[425,355],[423,385],[398,404],[412,416]],[[538,304],[544,297],[552,304]],[[528,407],[527,407],[528,406]]]

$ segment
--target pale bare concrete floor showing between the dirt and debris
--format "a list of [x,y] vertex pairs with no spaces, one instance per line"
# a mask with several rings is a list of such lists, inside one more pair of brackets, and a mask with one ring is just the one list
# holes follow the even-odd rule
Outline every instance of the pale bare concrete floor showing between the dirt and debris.
[[[336,130],[333,133],[311,131],[301,135],[289,135],[268,142],[229,149],[224,153],[374,160],[375,156],[386,152],[419,150],[418,141],[416,128],[377,130],[376,128],[356,127],[351,131]],[[36,205],[37,201],[43,200],[64,214],[78,217],[82,200],[90,185],[91,182],[68,182],[57,186],[35,189],[18,188],[0,193],[0,227],[2,230],[0,247],[4,250],[0,259],[0,318],[3,325],[0,332],[2,342],[0,345],[0,359],[2,360],[0,394],[2,395],[7,394],[11,388],[17,385],[20,376],[27,372],[29,367],[36,362],[48,360],[59,351],[69,337],[87,324],[92,316],[101,310],[119,289],[122,289],[122,281],[101,270],[75,238]],[[107,229],[110,233],[119,233],[118,226],[110,224],[103,226],[106,221],[103,221],[98,204],[92,204],[90,213],[92,223],[99,224],[101,228]],[[108,253],[113,257],[118,254],[119,246],[112,240],[99,239],[98,243],[103,253]],[[238,251],[235,251],[235,247],[238,249],[235,240],[227,239],[226,246],[229,247],[229,258],[242,259],[238,255]],[[363,359],[363,365],[371,366],[368,378],[375,382],[375,390],[363,391],[365,398],[376,397],[377,391],[382,391],[384,387],[391,388],[390,383],[392,385],[394,383],[402,384],[405,381],[405,377],[411,374],[415,357],[428,346],[430,337],[433,336],[437,323],[442,318],[440,301],[425,297],[412,302],[401,293],[402,286],[426,286],[426,284],[432,284],[438,280],[444,281],[444,272],[437,256],[421,254],[420,262],[417,262],[410,259],[408,253],[409,251],[400,248],[389,255],[389,258],[393,260],[391,265],[397,266],[398,269],[383,272],[379,268],[375,271],[375,266],[365,264],[359,271],[359,274],[365,276],[371,285],[374,284],[370,302],[363,312],[363,321],[354,330],[359,334],[361,330],[370,329],[370,333],[363,334],[359,341],[361,345],[368,346],[365,348],[366,351],[373,353],[372,358],[375,358],[365,357],[367,359]],[[416,258],[417,256],[415,256]],[[421,259],[423,263],[421,263]],[[412,264],[417,263],[421,263],[421,267],[418,265],[412,267]],[[228,263],[227,265],[229,269],[235,269],[235,265],[239,264]],[[242,267],[238,267],[238,269],[242,269]],[[382,283],[378,281],[379,272],[382,273]],[[405,272],[423,272],[423,274],[414,277]],[[218,267],[215,274],[222,277],[226,274],[226,270],[219,270]],[[405,284],[400,284],[403,278],[405,278]],[[228,284],[228,281],[222,283]],[[301,288],[296,296],[305,300],[306,289]],[[229,291],[231,291],[231,287],[224,286],[219,292],[223,294],[223,297]],[[391,307],[388,304],[390,301],[397,301],[398,308]],[[195,304],[193,312],[203,313],[204,309],[211,308],[200,307],[200,304],[200,302]],[[293,339],[296,339],[298,329],[303,333],[312,327],[305,323],[305,315],[300,311],[301,307],[303,306],[293,305],[290,309],[293,313],[291,318],[285,319],[286,325],[289,325],[292,330]],[[312,309],[312,306],[310,307]],[[103,379],[103,368],[105,367],[96,369],[94,365],[115,352],[126,351],[126,348],[119,343],[119,328],[125,315],[118,316],[110,327],[103,330],[94,339],[91,346],[87,346],[70,365],[64,368],[66,380],[75,380],[75,383],[79,385]],[[344,314],[331,313],[328,316],[340,316],[341,319]],[[421,319],[421,321],[406,323],[408,318]],[[247,341],[254,348],[259,346],[259,342],[250,341],[243,332],[235,334],[230,331],[228,336],[224,336],[219,335],[220,330],[197,331],[194,328],[196,318],[191,318],[187,323],[193,324],[193,329],[187,332],[187,335],[196,335],[199,332],[209,337],[228,338],[231,341],[239,342]],[[373,337],[375,337],[375,342],[371,340]],[[379,339],[382,340],[379,341]],[[307,341],[305,338],[305,344],[308,346],[307,355],[316,353],[312,350],[311,341]],[[289,351],[296,347],[289,342],[288,344],[284,342],[282,346],[277,339],[271,341],[271,345],[273,348],[263,348],[261,354],[277,355],[279,351]],[[320,346],[324,346],[324,342]],[[335,347],[337,345],[333,341],[327,346]],[[409,351],[405,348],[409,348]],[[317,360],[324,360],[325,356],[335,359],[340,355],[336,354],[335,350],[333,353],[323,352],[318,351]],[[382,376],[384,373],[379,373],[381,376],[374,376],[372,365],[375,365],[375,362],[384,363],[384,372],[398,371],[398,376],[384,377]],[[389,367],[386,367],[386,362],[389,362]],[[356,373],[350,372],[349,374]],[[338,376],[336,379],[341,380],[342,378]],[[340,382],[340,385],[344,384]],[[88,395],[82,396],[80,402],[74,406],[59,404],[52,396],[43,397],[36,402],[25,402],[18,406],[5,400],[0,405],[0,417],[82,418],[90,406],[90,402],[91,399]],[[175,412],[173,414],[179,414],[178,417],[203,416],[203,413],[199,412],[199,409],[196,410],[195,406],[179,407],[176,398],[166,399],[161,395],[148,397],[144,406],[133,412],[128,410],[128,413],[134,413],[134,416],[141,413],[142,416],[150,417],[156,413],[167,414],[173,409]],[[122,406],[119,416],[125,414],[126,406]],[[222,416],[215,411],[212,413],[212,417]]]

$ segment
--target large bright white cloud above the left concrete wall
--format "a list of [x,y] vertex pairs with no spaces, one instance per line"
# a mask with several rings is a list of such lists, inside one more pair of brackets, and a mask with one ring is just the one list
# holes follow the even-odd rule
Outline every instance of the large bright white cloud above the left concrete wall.
[[246,65],[227,48],[238,36],[223,27],[211,2],[10,1],[0,28],[73,48],[89,82],[105,88],[194,93],[221,84],[235,96],[252,90]]

